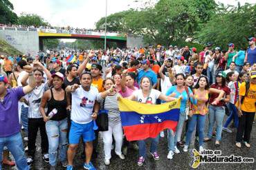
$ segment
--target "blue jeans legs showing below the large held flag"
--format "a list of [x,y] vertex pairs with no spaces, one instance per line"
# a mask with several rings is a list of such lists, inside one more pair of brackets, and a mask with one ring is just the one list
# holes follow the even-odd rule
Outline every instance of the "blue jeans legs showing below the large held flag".
[[[150,138],[151,145],[150,145],[150,152],[154,153],[158,147],[159,142],[159,136],[156,136],[156,138]],[[138,153],[139,156],[143,156],[145,158],[146,156],[146,142],[145,140],[138,140]]]

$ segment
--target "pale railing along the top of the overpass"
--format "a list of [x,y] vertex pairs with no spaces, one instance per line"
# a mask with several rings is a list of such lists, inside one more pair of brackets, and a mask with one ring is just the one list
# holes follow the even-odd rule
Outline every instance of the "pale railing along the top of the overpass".
[[[0,30],[16,30],[16,31],[37,31],[45,33],[62,33],[62,34],[85,34],[85,35],[98,35],[105,36],[104,32],[89,31],[89,30],[62,30],[62,29],[42,29],[42,28],[17,28],[17,27],[4,27],[1,26]],[[118,32],[107,32],[107,36],[126,36]]]

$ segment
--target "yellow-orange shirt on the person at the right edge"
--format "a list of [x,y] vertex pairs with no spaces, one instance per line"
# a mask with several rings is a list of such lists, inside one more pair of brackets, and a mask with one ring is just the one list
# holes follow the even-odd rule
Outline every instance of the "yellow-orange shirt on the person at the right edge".
[[[241,83],[239,89],[239,95],[246,95],[246,83]],[[244,102],[241,104],[241,110],[247,112],[255,112],[255,102],[256,102],[256,85],[250,83],[250,88],[248,89],[247,96],[244,97]]]

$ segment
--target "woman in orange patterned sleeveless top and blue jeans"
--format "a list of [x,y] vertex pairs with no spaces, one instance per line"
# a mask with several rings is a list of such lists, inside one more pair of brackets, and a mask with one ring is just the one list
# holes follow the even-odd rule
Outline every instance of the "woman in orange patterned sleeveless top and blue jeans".
[[203,151],[203,130],[205,126],[206,114],[208,113],[208,94],[217,93],[219,94],[218,98],[216,98],[212,105],[217,105],[219,100],[221,100],[222,96],[225,94],[222,90],[210,88],[208,83],[208,78],[205,76],[200,76],[199,81],[197,81],[194,89],[194,99],[195,104],[192,103],[192,108],[190,108],[191,120],[188,123],[188,131],[186,133],[186,141],[183,151],[188,151],[188,145],[190,144],[190,139],[192,133],[194,131],[195,125],[197,126],[199,132],[199,151]]

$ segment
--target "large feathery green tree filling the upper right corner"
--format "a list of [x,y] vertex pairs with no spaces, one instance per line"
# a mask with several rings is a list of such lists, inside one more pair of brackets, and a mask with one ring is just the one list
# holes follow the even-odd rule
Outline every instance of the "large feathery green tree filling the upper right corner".
[[254,36],[256,30],[256,5],[219,6],[218,13],[203,25],[196,38],[200,43],[213,43],[226,49],[228,43],[236,47],[247,47],[248,36]]

